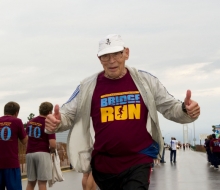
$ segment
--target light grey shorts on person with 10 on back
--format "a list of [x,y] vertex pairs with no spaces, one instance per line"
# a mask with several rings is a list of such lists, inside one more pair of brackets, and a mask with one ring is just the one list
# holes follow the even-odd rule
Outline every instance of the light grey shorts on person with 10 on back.
[[26,155],[28,181],[47,181],[52,179],[52,160],[50,153],[35,152]]

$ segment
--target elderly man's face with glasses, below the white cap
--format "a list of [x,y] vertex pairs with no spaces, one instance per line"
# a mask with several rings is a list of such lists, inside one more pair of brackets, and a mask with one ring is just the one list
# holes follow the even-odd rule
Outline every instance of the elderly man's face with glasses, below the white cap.
[[[116,53],[105,54],[99,60],[105,70],[105,74],[110,78],[120,77],[125,70],[125,60],[129,57],[129,49],[125,48],[124,50]],[[106,60],[105,60],[106,59]]]

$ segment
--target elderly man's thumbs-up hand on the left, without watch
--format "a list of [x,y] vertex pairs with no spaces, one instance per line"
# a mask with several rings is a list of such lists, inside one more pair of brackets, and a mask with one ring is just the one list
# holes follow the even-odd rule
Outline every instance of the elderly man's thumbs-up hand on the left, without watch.
[[60,124],[60,120],[61,120],[61,114],[59,111],[59,105],[55,105],[54,107],[54,113],[53,114],[49,114],[46,117],[45,120],[45,128],[47,131],[49,132],[54,132],[58,125]]

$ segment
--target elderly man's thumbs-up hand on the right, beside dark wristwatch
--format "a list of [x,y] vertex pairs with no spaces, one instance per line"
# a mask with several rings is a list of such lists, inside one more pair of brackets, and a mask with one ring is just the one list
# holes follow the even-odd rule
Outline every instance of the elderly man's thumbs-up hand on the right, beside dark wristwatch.
[[191,99],[191,90],[187,90],[184,104],[187,110],[187,114],[191,118],[196,118],[200,115],[200,106],[197,102]]

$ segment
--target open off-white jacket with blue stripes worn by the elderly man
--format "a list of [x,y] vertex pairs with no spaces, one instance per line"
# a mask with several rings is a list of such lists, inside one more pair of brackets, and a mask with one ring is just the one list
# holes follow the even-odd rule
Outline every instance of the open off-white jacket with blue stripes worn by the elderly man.
[[[148,108],[146,128],[152,138],[163,149],[163,139],[159,127],[157,111],[165,118],[190,123],[190,118],[182,111],[182,102],[170,95],[160,81],[150,73],[126,66],[134,80],[145,105]],[[91,151],[93,149],[92,122],[90,122],[91,101],[99,73],[84,79],[69,101],[62,106],[61,123],[56,132],[70,129],[67,147],[71,164],[78,172],[90,170]]]

